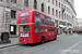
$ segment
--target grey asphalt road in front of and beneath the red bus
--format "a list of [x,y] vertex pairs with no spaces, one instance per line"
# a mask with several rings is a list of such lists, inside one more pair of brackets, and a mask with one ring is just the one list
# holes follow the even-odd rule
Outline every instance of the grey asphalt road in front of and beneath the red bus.
[[[17,44],[17,38],[11,38]],[[11,43],[11,45],[13,45]],[[7,45],[7,44],[4,44]],[[0,44],[0,46],[2,46]],[[56,41],[48,41],[44,44],[17,44],[0,49],[0,54],[81,54],[82,35],[58,35]],[[77,51],[77,52],[75,52]]]

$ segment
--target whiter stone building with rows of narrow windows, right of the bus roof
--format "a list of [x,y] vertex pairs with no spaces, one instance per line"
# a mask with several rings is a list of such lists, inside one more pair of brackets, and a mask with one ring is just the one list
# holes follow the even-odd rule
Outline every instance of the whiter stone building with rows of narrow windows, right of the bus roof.
[[55,17],[57,27],[60,28],[58,33],[62,33],[67,27],[77,28],[74,0],[47,0],[47,14]]

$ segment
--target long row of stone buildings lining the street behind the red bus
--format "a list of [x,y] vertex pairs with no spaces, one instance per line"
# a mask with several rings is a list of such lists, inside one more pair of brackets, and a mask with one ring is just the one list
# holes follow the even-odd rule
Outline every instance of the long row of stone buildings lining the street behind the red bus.
[[[55,17],[57,27],[75,27],[77,13],[73,4],[73,0],[0,0],[0,32],[17,35],[16,16],[26,9],[36,9]],[[62,27],[58,33],[62,33]]]

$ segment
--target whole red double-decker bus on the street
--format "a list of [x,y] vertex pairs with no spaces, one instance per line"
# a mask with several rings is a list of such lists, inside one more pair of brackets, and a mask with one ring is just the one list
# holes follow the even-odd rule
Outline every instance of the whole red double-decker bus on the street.
[[44,43],[57,39],[55,18],[37,10],[21,11],[16,25],[19,25],[19,43]]

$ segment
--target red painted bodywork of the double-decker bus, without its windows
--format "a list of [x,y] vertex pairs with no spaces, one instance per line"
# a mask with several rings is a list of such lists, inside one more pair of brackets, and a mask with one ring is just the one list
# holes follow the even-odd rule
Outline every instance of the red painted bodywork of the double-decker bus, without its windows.
[[[28,15],[26,16],[20,16],[21,13],[23,12],[30,12]],[[19,25],[19,43],[37,43],[37,42],[40,42],[40,38],[42,36],[45,36],[45,40],[51,40],[51,39],[55,39],[55,35],[56,35],[56,28],[55,26],[50,27],[50,26],[42,26],[40,27],[44,27],[44,28],[54,28],[55,31],[40,31],[40,32],[35,32],[35,25],[30,25],[30,31],[20,31],[20,26],[23,26],[24,24],[28,24],[28,23],[35,23],[35,12],[38,12],[40,14],[44,14],[43,12],[39,12],[39,11],[36,11],[34,9],[28,9],[28,10],[24,10],[24,11],[21,11],[19,14],[17,14],[17,21],[16,21],[16,25]],[[44,14],[46,16],[48,16],[47,14]],[[27,17],[27,23],[20,23],[21,22],[21,17]],[[49,16],[50,17],[50,16]],[[40,29],[39,27],[39,29]],[[28,37],[21,37],[21,33],[28,33]],[[23,39],[25,39],[26,41],[23,41]]]

